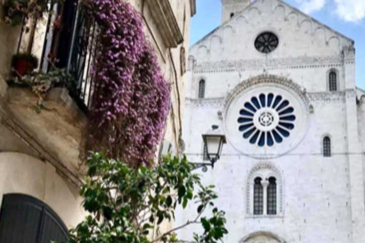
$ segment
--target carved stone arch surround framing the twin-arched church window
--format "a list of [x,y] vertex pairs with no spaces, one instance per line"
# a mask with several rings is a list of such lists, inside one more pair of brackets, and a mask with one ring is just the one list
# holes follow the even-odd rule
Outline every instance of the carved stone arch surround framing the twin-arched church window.
[[250,212],[250,203],[251,203],[251,199],[250,198],[250,186],[251,186],[251,182],[254,180],[254,178],[257,175],[260,175],[262,177],[263,180],[265,180],[266,178],[263,178],[263,176],[261,175],[260,171],[263,169],[269,169],[272,173],[270,174],[270,176],[275,176],[276,180],[277,180],[277,185],[278,185],[278,192],[279,192],[279,201],[278,201],[278,215],[282,215],[283,214],[283,178],[282,178],[282,174],[280,169],[275,166],[274,164],[272,164],[271,162],[260,162],[258,164],[256,164],[255,166],[252,167],[252,169],[248,172],[247,177],[246,177],[246,213],[247,214],[251,214]]

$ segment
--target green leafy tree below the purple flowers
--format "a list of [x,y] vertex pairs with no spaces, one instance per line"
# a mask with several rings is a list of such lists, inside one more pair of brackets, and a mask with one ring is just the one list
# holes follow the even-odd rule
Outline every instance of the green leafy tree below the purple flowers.
[[[214,208],[214,186],[203,186],[185,157],[166,157],[152,168],[133,170],[102,153],[91,153],[87,164],[81,195],[90,215],[70,230],[69,243],[215,243],[228,233],[225,213]],[[188,203],[197,205],[195,218],[151,237],[162,222],[174,219],[176,207],[185,209]],[[203,217],[208,209],[210,218]],[[178,239],[176,231],[191,224],[201,225],[203,233],[194,233],[193,241]]]

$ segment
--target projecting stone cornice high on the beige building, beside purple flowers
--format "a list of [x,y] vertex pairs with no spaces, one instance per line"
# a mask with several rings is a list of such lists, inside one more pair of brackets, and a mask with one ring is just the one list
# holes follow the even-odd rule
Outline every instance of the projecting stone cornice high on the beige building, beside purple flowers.
[[175,48],[184,41],[181,30],[168,0],[146,1],[168,48]]

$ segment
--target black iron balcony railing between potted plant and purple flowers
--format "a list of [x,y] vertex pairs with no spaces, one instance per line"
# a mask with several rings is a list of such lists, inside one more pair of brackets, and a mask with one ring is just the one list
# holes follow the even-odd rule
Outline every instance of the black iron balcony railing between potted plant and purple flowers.
[[50,63],[66,69],[74,79],[66,86],[69,94],[87,112],[94,91],[91,65],[97,45],[97,24],[77,0],[61,1],[51,9],[40,69],[50,71]]

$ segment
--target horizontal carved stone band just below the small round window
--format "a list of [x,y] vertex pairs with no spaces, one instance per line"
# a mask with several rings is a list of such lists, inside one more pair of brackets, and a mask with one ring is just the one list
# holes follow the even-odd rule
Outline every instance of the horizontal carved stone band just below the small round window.
[[[195,63],[194,63],[195,64]],[[196,63],[194,72],[218,71],[218,70],[244,70],[244,69],[278,69],[278,68],[315,68],[315,67],[340,67],[343,65],[341,56],[325,57],[288,57],[273,59],[241,59],[241,60],[221,60],[215,62]]]

